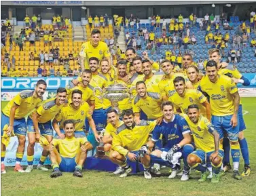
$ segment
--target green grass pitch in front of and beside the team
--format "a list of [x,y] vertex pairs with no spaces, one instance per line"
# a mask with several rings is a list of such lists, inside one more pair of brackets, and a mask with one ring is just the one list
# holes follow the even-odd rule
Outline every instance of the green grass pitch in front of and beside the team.
[[[2,106],[5,103],[2,103]],[[84,171],[84,178],[75,178],[64,173],[56,179],[50,178],[50,172],[34,170],[31,174],[14,173],[13,168],[7,168],[7,174],[1,175],[1,193],[10,195],[172,195],[172,196],[253,196],[256,195],[256,98],[242,98],[244,120],[247,130],[245,136],[249,143],[251,175],[242,180],[234,180],[232,172],[221,178],[219,184],[198,182],[200,174],[191,173],[187,182],[179,178],[168,179],[168,170],[162,170],[164,176],[146,180],[143,174],[119,178],[107,172]],[[240,161],[240,172],[243,170],[243,160]]]

